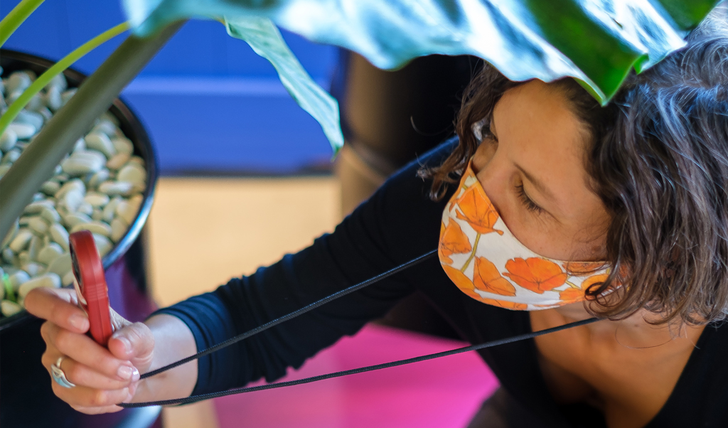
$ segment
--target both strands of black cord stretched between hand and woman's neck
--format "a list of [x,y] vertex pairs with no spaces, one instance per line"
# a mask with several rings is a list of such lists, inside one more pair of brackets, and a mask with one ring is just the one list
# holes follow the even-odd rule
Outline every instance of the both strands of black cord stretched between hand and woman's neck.
[[[197,354],[183,358],[182,360],[173,362],[172,364],[165,365],[164,367],[158,368],[157,370],[152,370],[148,373],[144,373],[143,375],[141,375],[141,379],[146,379],[150,376],[154,376],[158,373],[162,373],[166,370],[170,370],[172,368],[178,367],[179,365],[183,365],[186,362],[190,362],[192,360],[197,360],[199,357],[204,357],[207,354],[218,351],[219,349],[223,349],[226,346],[235,344],[235,343],[242,341],[245,338],[249,338],[250,336],[253,336],[257,333],[261,333],[262,331],[272,328],[275,325],[280,324],[281,322],[288,321],[292,318],[298,317],[298,315],[305,314],[306,312],[312,311],[313,309],[316,309],[317,307],[322,306],[323,304],[327,304],[330,301],[336,300],[336,298],[346,296],[347,294],[353,293],[356,290],[360,290],[362,288],[367,287],[368,285],[372,285],[374,282],[384,280],[384,278],[390,277],[393,274],[396,274],[398,272],[402,272],[403,270],[405,270],[411,266],[414,266],[422,261],[425,261],[428,258],[432,258],[434,255],[437,255],[437,253],[438,253],[438,250],[432,250],[429,253],[420,255],[419,257],[414,258],[411,261],[408,261],[406,263],[403,263],[400,266],[395,267],[394,269],[390,269],[387,272],[379,274],[376,277],[372,277],[369,280],[360,282],[357,285],[352,285],[352,287],[349,287],[344,290],[340,290],[336,293],[333,293],[328,297],[322,298],[319,301],[315,301],[314,303],[304,306],[301,309],[297,309],[296,311],[291,312],[290,314],[284,315],[283,317],[277,318],[270,322],[266,322],[263,325],[253,328],[253,330],[249,330],[245,333],[235,336],[234,338],[230,338],[226,341],[223,341],[220,344],[211,346],[210,348],[197,352]],[[210,398],[225,397],[226,395],[242,394],[245,392],[263,391],[265,389],[292,387],[293,385],[298,385],[298,384],[309,384],[311,382],[323,381],[325,379],[332,379],[332,378],[337,378],[337,377],[341,377],[341,376],[347,376],[349,374],[364,373],[364,372],[372,371],[372,370],[381,370],[383,368],[396,367],[398,365],[411,364],[413,362],[420,362],[420,361],[432,360],[432,359],[440,358],[440,357],[447,357],[448,355],[461,354],[463,352],[475,351],[477,349],[485,349],[485,348],[489,348],[491,346],[510,344],[515,341],[523,341],[523,340],[526,340],[529,338],[543,336],[548,333],[555,333],[557,331],[566,330],[567,328],[578,327],[579,325],[591,324],[592,322],[596,322],[598,320],[599,319],[595,317],[595,318],[590,318],[588,320],[570,322],[569,324],[561,325],[561,326],[558,326],[555,328],[548,328],[546,330],[539,330],[536,332],[525,333],[522,335],[510,337],[510,338],[503,338],[503,339],[499,339],[496,341],[486,342],[484,344],[464,346],[459,349],[451,349],[450,351],[438,352],[436,354],[422,355],[421,357],[408,358],[407,360],[385,362],[383,364],[369,365],[366,367],[355,368],[352,370],[342,370],[342,371],[338,371],[338,372],[334,372],[334,373],[327,373],[327,374],[320,375],[320,376],[312,376],[312,377],[305,378],[305,379],[298,379],[296,381],[279,382],[277,384],[267,384],[267,385],[261,385],[259,387],[248,387],[248,388],[244,387],[244,388],[228,389],[226,391],[213,392],[210,394],[202,394],[202,395],[193,395],[191,397],[175,398],[173,400],[149,401],[146,403],[119,403],[118,405],[119,405],[119,407],[122,407],[122,408],[138,408],[138,407],[147,407],[147,406],[151,406],[151,405],[179,405],[179,404],[195,403],[200,400],[209,400]]]

